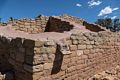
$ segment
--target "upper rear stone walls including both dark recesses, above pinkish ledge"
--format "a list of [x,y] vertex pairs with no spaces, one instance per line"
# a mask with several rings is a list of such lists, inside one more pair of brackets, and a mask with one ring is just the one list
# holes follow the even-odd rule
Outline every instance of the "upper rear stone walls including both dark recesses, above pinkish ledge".
[[18,19],[8,22],[8,25],[18,31],[27,32],[30,34],[38,34],[44,32],[64,32],[81,26],[92,32],[106,31],[99,25],[88,23],[78,17],[63,15],[63,16],[40,16],[35,19]]

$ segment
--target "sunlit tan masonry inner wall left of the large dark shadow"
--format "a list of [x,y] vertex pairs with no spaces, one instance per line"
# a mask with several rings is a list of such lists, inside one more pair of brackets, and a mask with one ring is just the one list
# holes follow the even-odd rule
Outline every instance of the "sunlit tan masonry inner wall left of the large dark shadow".
[[44,32],[48,20],[48,16],[40,16],[35,19],[13,20],[9,21],[8,24],[11,24],[16,30],[34,34]]

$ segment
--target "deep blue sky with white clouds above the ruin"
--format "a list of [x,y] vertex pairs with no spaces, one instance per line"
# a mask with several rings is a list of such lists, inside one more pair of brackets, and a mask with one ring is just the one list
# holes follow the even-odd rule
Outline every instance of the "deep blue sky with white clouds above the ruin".
[[89,22],[98,18],[120,18],[120,0],[0,0],[2,21],[34,18],[39,14],[70,14]]

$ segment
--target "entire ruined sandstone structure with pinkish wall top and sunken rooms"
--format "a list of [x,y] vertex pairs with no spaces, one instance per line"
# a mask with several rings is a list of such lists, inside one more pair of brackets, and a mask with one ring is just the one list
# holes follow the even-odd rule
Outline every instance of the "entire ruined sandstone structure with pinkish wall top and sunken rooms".
[[7,80],[87,80],[120,62],[120,33],[73,16],[16,20],[0,27]]

